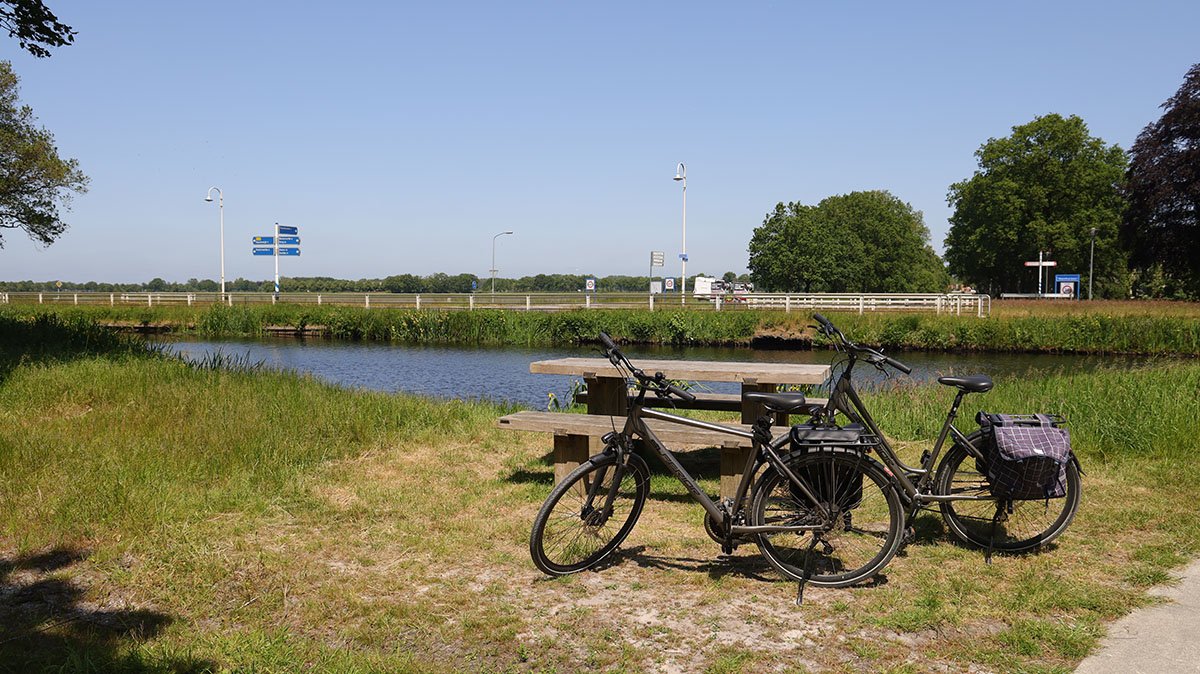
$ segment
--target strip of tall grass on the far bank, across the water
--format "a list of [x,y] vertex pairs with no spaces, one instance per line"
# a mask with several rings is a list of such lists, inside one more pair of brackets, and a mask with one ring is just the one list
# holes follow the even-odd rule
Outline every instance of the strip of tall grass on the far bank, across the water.
[[[1182,302],[996,302],[991,318],[878,313],[829,315],[856,341],[889,349],[1200,355],[1200,306]],[[167,325],[209,337],[259,336],[269,326],[346,339],[458,344],[578,344],[604,330],[625,342],[810,348],[808,312],[415,311],[312,307],[10,306],[0,315],[54,313],[122,325]],[[817,342],[817,347],[823,345]]]

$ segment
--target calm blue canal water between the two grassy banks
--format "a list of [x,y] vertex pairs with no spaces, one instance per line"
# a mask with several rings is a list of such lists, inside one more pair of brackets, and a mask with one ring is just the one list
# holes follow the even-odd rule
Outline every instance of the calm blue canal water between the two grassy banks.
[[[569,377],[530,374],[529,363],[568,356],[598,356],[594,348],[440,347],[342,342],[334,339],[221,339],[170,341],[173,351],[187,359],[212,353],[247,357],[270,367],[312,373],[352,389],[424,393],[442,398],[488,398],[545,409],[548,393],[565,398]],[[628,347],[630,359],[708,361],[803,362],[828,365],[833,351],[784,351],[745,348]],[[920,381],[943,374],[988,374],[997,385],[1034,371],[1087,371],[1102,365],[1132,367],[1147,359],[1121,356],[1062,356],[1030,354],[894,353],[913,368],[895,381]],[[862,377],[860,377],[862,374]],[[860,386],[868,379],[887,385],[872,368],[854,371]],[[732,383],[707,383],[710,390],[733,393]]]

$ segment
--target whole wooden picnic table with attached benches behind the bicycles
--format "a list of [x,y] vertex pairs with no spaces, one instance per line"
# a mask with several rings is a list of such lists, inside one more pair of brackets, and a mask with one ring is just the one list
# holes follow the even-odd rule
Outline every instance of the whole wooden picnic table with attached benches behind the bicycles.
[[[646,373],[661,372],[667,379],[683,381],[736,381],[742,392],[775,392],[780,385],[821,384],[829,374],[829,366],[808,363],[730,362],[730,361],[682,361],[638,360],[635,363]],[[562,480],[580,463],[598,453],[602,446],[600,438],[613,428],[620,431],[629,411],[629,386],[622,373],[606,359],[570,357],[529,363],[535,374],[566,374],[582,377],[587,385],[588,413],[563,414],[542,411],[518,411],[499,419],[502,428],[554,434],[554,480]],[[648,397],[647,401],[650,401]],[[730,425],[749,431],[763,408],[748,403],[737,393],[696,393],[696,401],[684,404],[672,401],[682,409],[740,411],[742,423]],[[812,399],[824,403],[823,399]],[[658,401],[655,399],[656,404]],[[776,415],[776,427],[787,426],[787,415]],[[648,420],[650,431],[664,443],[719,447],[721,452],[721,497],[732,498],[737,491],[742,469],[750,456],[751,443],[734,435],[714,431],[689,428],[665,421]]]

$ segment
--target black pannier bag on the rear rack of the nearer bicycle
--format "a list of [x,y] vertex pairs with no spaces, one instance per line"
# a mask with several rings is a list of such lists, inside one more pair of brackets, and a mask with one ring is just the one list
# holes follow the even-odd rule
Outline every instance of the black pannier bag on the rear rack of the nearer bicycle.
[[[875,444],[878,444],[875,435],[866,434],[863,426],[858,423],[847,423],[845,427],[800,423],[793,426],[791,433],[791,450],[802,453],[821,447],[854,447]],[[844,511],[858,507],[863,503],[863,473],[853,467],[817,465],[797,470],[797,477],[808,483],[817,499],[836,504]],[[792,489],[799,492],[794,486]],[[805,501],[803,494],[794,494],[794,497],[800,503]]]

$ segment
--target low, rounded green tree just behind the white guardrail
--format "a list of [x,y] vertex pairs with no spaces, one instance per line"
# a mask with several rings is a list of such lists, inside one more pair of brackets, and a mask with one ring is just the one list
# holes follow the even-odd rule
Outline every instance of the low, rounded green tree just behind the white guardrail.
[[829,197],[816,206],[778,204],[749,249],[750,277],[762,289],[916,293],[949,281],[920,211],[886,191]]

